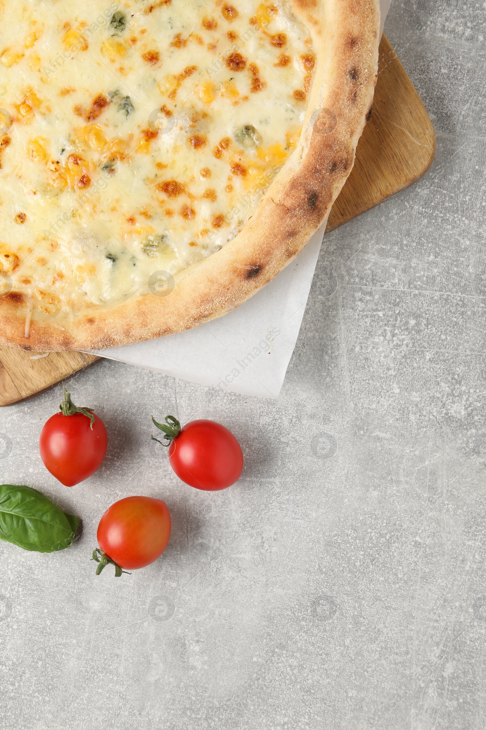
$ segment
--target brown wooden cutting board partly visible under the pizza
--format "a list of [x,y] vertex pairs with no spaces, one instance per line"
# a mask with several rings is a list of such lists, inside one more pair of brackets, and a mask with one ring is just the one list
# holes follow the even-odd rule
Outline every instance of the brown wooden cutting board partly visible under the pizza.
[[[359,140],[353,170],[332,207],[326,233],[415,183],[431,166],[435,148],[426,109],[383,36],[372,118]],[[85,353],[33,353],[0,345],[0,406],[39,393],[99,359]]]

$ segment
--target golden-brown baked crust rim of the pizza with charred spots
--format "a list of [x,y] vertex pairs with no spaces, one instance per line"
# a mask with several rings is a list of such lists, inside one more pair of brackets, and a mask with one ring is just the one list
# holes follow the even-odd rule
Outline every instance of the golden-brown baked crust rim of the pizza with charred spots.
[[[291,0],[317,58],[301,144],[254,215],[222,250],[147,293],[74,318],[31,318],[23,296],[0,298],[0,342],[25,350],[101,349],[195,327],[238,307],[302,250],[353,167],[377,80],[377,0]],[[27,336],[26,336],[27,335]]]

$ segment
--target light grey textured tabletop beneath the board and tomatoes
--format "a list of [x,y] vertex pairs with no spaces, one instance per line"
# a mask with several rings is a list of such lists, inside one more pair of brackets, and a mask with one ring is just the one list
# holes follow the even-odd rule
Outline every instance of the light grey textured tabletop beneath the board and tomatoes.
[[[109,451],[73,489],[37,448],[60,388],[1,410],[2,480],[84,523],[65,553],[0,545],[2,730],[484,728],[485,30],[482,0],[392,5],[436,161],[326,237],[277,401],[96,364],[70,385]],[[229,426],[240,483],[179,483],[152,412]],[[133,493],[167,502],[168,549],[95,577]]]

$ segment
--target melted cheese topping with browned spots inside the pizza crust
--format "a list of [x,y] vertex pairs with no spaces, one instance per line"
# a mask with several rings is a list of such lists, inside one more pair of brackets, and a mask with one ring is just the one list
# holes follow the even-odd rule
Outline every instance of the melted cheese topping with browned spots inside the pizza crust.
[[0,272],[29,312],[149,291],[259,204],[314,55],[285,7],[232,2],[0,0]]

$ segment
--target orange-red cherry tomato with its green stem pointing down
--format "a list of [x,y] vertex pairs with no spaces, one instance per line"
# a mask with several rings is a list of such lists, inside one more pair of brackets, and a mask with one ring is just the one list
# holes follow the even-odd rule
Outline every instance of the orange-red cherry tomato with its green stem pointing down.
[[167,504],[152,497],[120,499],[104,513],[97,537],[103,553],[120,568],[144,568],[160,558],[171,537]]

